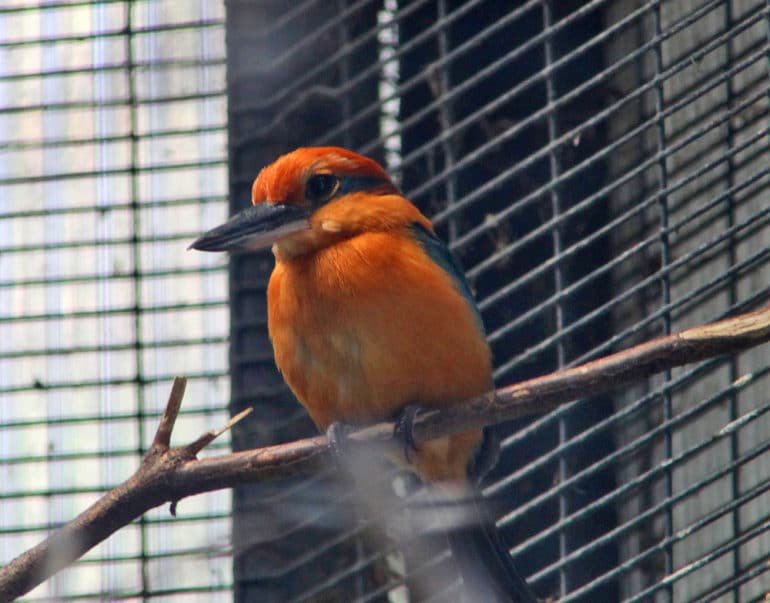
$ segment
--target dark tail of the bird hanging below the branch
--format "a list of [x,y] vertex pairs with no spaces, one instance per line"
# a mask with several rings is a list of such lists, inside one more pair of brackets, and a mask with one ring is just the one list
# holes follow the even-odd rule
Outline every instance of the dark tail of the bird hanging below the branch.
[[447,537],[470,601],[536,603],[482,502],[473,497],[467,506],[473,521],[449,530]]

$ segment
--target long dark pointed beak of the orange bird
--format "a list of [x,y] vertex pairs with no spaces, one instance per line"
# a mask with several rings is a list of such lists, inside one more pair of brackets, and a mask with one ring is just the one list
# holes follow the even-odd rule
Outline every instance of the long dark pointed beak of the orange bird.
[[310,228],[310,209],[285,203],[258,203],[235,214],[193,241],[200,251],[256,250]]

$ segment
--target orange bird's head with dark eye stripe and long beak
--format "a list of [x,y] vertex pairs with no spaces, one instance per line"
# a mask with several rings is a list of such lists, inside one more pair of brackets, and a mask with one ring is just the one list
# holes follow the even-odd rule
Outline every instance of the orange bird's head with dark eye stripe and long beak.
[[264,168],[252,207],[208,231],[202,251],[273,247],[278,259],[306,255],[367,231],[430,223],[380,165],[338,147],[301,148]]

